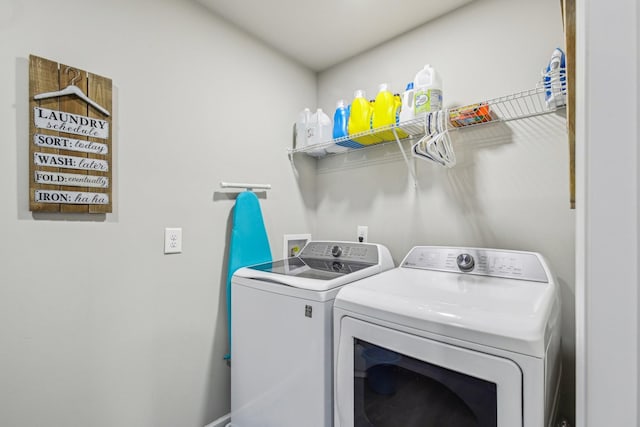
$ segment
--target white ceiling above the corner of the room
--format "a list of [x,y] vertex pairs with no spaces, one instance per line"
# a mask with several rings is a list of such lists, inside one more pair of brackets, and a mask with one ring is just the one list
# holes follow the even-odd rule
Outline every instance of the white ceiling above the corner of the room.
[[196,0],[322,71],[472,0]]

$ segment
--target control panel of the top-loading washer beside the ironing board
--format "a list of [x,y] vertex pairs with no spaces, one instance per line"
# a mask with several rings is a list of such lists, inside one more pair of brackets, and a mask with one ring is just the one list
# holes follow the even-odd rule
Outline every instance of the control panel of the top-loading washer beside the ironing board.
[[371,243],[311,241],[302,249],[300,258],[332,259],[378,264],[378,246]]

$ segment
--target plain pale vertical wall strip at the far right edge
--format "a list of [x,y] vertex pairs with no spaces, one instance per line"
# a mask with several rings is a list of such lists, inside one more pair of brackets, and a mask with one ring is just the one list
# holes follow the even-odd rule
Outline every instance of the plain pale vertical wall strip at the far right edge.
[[597,0],[576,12],[576,425],[637,426],[640,8]]

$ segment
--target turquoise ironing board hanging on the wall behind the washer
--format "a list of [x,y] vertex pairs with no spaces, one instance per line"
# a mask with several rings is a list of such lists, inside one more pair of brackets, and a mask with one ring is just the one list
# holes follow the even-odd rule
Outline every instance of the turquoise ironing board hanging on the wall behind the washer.
[[229,241],[227,268],[227,320],[229,354],[231,358],[231,278],[239,268],[272,261],[267,230],[264,227],[258,197],[252,191],[243,191],[233,208],[233,225]]

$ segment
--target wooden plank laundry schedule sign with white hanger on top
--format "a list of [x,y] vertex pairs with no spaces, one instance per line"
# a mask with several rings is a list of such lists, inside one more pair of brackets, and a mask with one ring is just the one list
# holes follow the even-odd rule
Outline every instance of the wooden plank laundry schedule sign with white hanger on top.
[[29,57],[31,211],[112,211],[111,79]]

